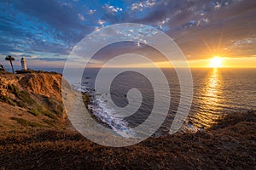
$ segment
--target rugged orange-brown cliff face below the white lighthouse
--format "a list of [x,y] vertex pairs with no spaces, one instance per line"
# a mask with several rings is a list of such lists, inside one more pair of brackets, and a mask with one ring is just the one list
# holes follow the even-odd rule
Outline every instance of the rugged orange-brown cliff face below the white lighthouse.
[[61,75],[0,71],[0,108],[1,129],[64,127]]

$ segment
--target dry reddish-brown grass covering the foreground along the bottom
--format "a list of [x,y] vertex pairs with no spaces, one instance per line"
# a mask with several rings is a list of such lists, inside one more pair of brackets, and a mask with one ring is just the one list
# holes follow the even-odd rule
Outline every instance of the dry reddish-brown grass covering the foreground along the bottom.
[[234,113],[209,132],[150,138],[124,148],[94,144],[73,131],[5,131],[0,169],[253,169],[255,118],[253,111]]

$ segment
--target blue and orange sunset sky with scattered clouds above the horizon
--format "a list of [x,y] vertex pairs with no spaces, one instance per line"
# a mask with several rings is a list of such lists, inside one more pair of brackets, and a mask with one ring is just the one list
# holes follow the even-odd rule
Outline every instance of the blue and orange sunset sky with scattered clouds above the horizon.
[[[214,56],[225,67],[256,67],[254,0],[1,0],[0,64],[11,54],[15,65],[63,67],[68,55],[93,31],[138,23],[164,31],[181,48],[191,67],[207,67]],[[119,43],[98,53],[159,54],[147,45]],[[159,65],[165,63],[159,59]]]

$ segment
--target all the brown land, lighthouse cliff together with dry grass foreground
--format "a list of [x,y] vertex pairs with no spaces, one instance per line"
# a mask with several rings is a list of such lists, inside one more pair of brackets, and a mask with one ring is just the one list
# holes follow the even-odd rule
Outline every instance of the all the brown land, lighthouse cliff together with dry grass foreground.
[[[253,169],[256,112],[228,114],[204,132],[111,148],[68,128],[61,75],[0,75],[0,169]],[[83,94],[84,103],[88,96]]]

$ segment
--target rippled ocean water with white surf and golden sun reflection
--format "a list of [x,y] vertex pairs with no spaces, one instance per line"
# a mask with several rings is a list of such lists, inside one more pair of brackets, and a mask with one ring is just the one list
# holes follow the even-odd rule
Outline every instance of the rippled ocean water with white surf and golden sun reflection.
[[[154,77],[154,69],[143,70]],[[61,73],[62,70],[47,69],[47,71]],[[161,135],[169,131],[181,99],[180,82],[174,69],[162,69],[167,81],[160,82],[158,80],[159,82],[155,83],[155,86],[160,89],[157,92],[158,94],[154,93],[154,87],[148,77],[134,71],[126,71],[114,77],[110,84],[110,91],[106,91],[105,88],[95,91],[98,71],[99,69],[87,69],[81,82],[71,83],[74,88],[91,95],[90,109],[104,124],[113,128],[117,133],[124,134],[123,131],[126,131],[126,136],[135,135],[129,131],[130,127],[137,127],[147,120],[155,104],[154,97],[159,95],[158,111],[162,111],[161,108],[166,105],[166,101],[170,101],[167,104],[170,108],[166,121],[155,134]],[[105,76],[101,77],[102,84],[98,88],[105,85],[109,86],[108,83],[104,82],[108,82],[108,72],[110,74],[114,71],[116,69],[105,71]],[[207,68],[191,69],[191,73],[194,94],[189,116],[185,122],[188,129],[195,130],[201,127],[207,129],[212,127],[224,114],[256,110],[256,69]],[[170,89],[171,96],[166,93],[165,88],[161,88],[166,86],[165,83]],[[135,88],[137,91],[134,90]],[[134,95],[128,93],[131,89],[133,89],[132,93]],[[127,115],[125,118],[114,116],[115,114],[121,114],[120,111],[122,110],[117,111],[116,107],[108,105],[109,99],[113,101],[114,105],[121,109],[127,108],[125,111],[131,111],[133,114]],[[141,102],[141,105],[137,105],[138,101]],[[183,107],[186,107],[186,105],[183,105]]]

